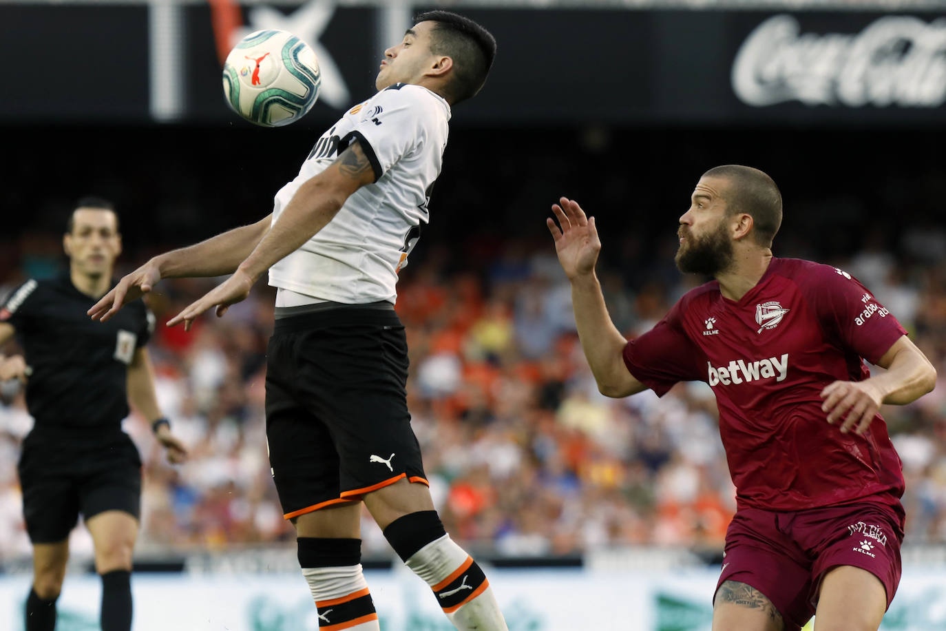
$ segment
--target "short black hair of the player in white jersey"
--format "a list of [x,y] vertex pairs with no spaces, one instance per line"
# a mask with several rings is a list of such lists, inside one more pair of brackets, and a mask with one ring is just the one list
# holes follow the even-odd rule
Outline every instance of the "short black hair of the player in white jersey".
[[453,76],[447,81],[447,100],[459,103],[480,92],[496,58],[496,38],[469,18],[450,11],[426,11],[414,18],[435,22],[430,33],[430,52],[453,60]]

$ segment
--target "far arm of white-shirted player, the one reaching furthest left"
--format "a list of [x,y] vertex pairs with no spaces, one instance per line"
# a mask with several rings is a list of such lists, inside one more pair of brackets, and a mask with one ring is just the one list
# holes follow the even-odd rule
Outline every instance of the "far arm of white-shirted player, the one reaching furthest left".
[[93,320],[105,322],[121,307],[148,293],[163,278],[220,276],[233,273],[270,229],[272,214],[228,230],[195,245],[158,254],[123,277],[88,310]]

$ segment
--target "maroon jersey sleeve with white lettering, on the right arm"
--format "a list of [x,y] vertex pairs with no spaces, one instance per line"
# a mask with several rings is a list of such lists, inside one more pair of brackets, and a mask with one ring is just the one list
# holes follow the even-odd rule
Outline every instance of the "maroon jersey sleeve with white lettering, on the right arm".
[[831,341],[841,348],[876,364],[906,335],[890,311],[848,272],[818,266],[810,278],[808,290],[818,318]]

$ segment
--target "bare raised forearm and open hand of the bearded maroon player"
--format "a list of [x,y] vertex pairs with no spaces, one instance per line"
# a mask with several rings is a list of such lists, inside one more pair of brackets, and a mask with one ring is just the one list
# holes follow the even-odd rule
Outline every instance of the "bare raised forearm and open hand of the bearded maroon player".
[[551,218],[546,219],[546,224],[555,240],[558,261],[571,283],[571,305],[578,338],[598,382],[598,390],[615,397],[646,390],[624,365],[622,351],[627,340],[611,321],[594,272],[601,252],[594,218],[588,219],[578,202],[564,197],[552,205],[552,212],[558,225]]

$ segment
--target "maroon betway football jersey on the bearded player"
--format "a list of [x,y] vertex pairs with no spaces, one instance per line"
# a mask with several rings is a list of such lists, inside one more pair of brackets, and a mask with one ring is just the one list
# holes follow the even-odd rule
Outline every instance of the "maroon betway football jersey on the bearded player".
[[900,457],[877,414],[862,436],[829,425],[819,395],[860,381],[906,331],[850,274],[773,258],[739,301],[712,281],[692,289],[624,363],[659,395],[677,381],[716,394],[740,507],[797,511],[870,499],[899,507]]

